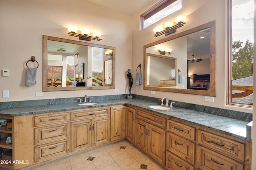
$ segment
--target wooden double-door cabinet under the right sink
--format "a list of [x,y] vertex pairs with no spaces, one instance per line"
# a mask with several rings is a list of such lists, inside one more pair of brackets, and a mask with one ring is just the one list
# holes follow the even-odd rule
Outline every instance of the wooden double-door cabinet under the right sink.
[[[136,110],[136,115],[138,115]],[[143,112],[146,119],[156,118],[149,113]],[[164,120],[163,120],[164,121]],[[158,124],[158,122],[156,122]],[[146,152],[149,156],[154,158],[157,162],[165,165],[165,148],[166,148],[166,131],[155,125],[152,125],[144,120],[135,119],[135,146]]]

